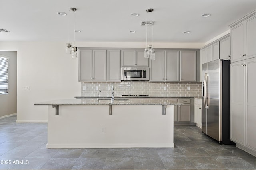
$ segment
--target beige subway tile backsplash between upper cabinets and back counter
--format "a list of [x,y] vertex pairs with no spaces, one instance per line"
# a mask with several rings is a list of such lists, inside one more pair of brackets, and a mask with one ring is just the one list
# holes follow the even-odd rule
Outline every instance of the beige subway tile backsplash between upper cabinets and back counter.
[[[100,96],[111,96],[111,86],[111,82],[81,82],[81,96],[98,96],[99,90]],[[202,95],[201,86],[198,82],[114,82],[114,96],[144,94],[154,97],[194,97]]]

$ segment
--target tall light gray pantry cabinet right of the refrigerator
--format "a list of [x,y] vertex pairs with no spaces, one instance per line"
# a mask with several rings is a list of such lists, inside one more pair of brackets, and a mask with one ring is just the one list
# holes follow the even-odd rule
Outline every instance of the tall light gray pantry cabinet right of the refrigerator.
[[256,156],[256,10],[231,28],[231,140]]

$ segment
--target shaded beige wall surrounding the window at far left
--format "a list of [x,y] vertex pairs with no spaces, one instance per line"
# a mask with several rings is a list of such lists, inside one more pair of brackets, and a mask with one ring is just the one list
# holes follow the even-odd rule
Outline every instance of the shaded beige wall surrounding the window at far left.
[[0,51],[9,57],[8,94],[0,94],[0,118],[17,113],[17,52]]

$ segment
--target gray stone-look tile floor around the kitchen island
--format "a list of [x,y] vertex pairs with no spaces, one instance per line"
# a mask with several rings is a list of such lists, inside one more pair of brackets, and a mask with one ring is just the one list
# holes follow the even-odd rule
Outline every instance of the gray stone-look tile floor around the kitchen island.
[[0,119],[0,170],[256,170],[256,157],[219,145],[194,126],[175,126],[175,148],[46,149],[47,123]]

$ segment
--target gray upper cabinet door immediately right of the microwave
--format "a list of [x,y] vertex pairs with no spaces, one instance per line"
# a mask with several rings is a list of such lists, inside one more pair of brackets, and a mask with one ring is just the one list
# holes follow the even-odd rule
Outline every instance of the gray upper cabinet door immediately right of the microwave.
[[156,59],[150,60],[150,82],[164,81],[164,51],[156,50]]

